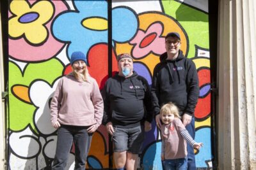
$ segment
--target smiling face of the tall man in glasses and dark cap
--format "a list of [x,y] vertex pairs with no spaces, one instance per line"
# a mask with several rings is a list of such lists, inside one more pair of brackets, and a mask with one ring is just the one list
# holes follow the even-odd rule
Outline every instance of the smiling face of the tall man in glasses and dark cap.
[[178,54],[180,50],[180,39],[177,37],[168,37],[165,40],[165,49],[172,55]]

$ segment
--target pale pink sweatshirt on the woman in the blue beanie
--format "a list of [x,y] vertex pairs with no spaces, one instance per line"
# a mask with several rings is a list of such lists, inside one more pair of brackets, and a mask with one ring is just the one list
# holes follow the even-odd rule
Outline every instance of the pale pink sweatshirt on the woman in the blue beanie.
[[101,124],[103,101],[94,78],[79,82],[68,74],[63,76],[51,101],[51,122],[63,125],[89,126]]

